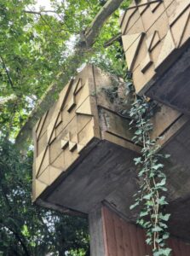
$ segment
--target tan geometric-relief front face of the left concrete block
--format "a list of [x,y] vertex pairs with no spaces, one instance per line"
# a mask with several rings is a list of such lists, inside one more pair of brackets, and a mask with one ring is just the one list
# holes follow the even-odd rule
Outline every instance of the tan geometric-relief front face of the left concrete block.
[[78,159],[95,137],[95,109],[91,106],[95,99],[90,96],[91,87],[88,78],[72,80],[60,92],[55,106],[37,122],[34,199]]

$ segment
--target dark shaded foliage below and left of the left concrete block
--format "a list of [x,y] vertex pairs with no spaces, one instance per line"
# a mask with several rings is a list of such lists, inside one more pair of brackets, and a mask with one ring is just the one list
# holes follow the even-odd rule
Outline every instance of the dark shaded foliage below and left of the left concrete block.
[[[32,151],[20,156],[13,143],[0,143],[0,251],[3,255],[65,255],[88,252],[88,224],[32,205]],[[84,255],[84,254],[82,254]]]

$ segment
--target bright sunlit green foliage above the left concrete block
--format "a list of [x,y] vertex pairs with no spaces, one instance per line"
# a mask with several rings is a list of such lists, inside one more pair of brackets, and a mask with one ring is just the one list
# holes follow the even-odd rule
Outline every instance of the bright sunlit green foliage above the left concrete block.
[[[15,137],[20,126],[41,99],[49,84],[62,88],[60,73],[69,73],[89,61],[124,75],[119,43],[105,49],[104,44],[119,32],[119,9],[101,29],[95,45],[86,55],[74,55],[83,34],[106,1],[51,1],[50,11],[35,11],[33,0],[0,1],[0,127]],[[129,1],[124,1],[123,8]],[[78,41],[80,38],[80,42]],[[81,41],[83,38],[83,41]],[[80,45],[81,46],[81,45]],[[102,61],[103,60],[103,61]],[[65,75],[65,74],[64,74]],[[1,103],[3,101],[3,103]]]

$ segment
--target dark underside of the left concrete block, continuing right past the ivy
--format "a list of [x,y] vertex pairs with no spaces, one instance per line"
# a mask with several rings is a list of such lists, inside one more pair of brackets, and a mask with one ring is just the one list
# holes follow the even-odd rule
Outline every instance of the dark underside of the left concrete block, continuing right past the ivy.
[[[190,241],[189,131],[190,124],[187,123],[162,149],[171,155],[165,162],[170,201],[166,211],[171,213],[170,233],[187,241]],[[85,215],[104,202],[124,218],[135,222],[137,212],[130,211],[130,205],[138,189],[133,163],[137,153],[107,141],[93,141],[88,147],[88,154],[85,152],[85,157],[82,154],[80,161],[46,189],[37,203]]]

